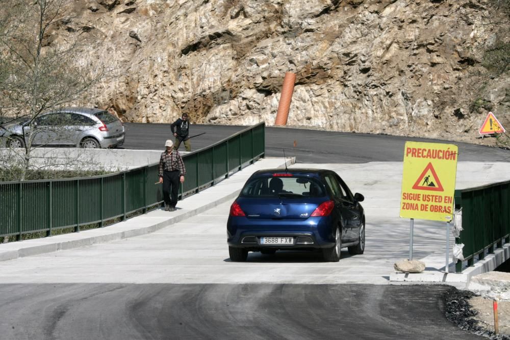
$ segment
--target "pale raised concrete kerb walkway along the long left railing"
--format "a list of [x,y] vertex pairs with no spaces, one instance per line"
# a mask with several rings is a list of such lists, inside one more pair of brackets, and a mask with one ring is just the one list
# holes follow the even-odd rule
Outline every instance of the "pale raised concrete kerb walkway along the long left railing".
[[[286,163],[287,165],[295,163],[295,158],[288,158]],[[182,208],[178,209],[175,212],[175,215],[172,215],[171,217],[154,216],[163,213],[161,210],[156,210],[104,228],[90,229],[78,233],[68,233],[43,239],[1,244],[0,261],[56,252],[59,250],[86,247],[97,243],[116,241],[154,232],[171,224],[181,222],[187,218],[203,213],[219,204],[233,200],[239,194],[246,179],[254,171],[264,168],[281,167],[285,167],[285,163],[282,163],[281,158],[261,159],[253,165],[234,173],[229,178],[219,182],[216,186],[207,188],[198,194],[189,196],[180,201],[179,205],[182,206]],[[214,188],[219,187],[221,187],[221,190],[214,190]],[[216,198],[217,195],[214,193],[225,191],[227,191],[228,194]],[[213,194],[209,194],[211,192],[213,192]],[[186,205],[191,206],[191,208],[186,208]]]

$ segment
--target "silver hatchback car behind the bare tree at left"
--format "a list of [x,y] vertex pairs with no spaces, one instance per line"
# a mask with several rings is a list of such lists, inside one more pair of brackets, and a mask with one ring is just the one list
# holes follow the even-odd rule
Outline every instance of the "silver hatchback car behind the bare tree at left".
[[[105,110],[89,108],[62,108],[46,112],[34,121],[18,118],[0,125],[0,137],[7,147],[24,147],[32,134],[32,145],[76,146],[83,148],[113,148],[124,144],[124,126]],[[24,134],[23,134],[24,132]]]

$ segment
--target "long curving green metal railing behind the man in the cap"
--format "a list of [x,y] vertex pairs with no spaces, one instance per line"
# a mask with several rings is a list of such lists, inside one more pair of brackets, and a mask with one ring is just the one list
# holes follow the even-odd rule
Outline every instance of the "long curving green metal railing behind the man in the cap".
[[[264,123],[183,156],[180,198],[216,184],[265,154]],[[108,175],[0,182],[0,237],[99,224],[163,202],[158,164]]]

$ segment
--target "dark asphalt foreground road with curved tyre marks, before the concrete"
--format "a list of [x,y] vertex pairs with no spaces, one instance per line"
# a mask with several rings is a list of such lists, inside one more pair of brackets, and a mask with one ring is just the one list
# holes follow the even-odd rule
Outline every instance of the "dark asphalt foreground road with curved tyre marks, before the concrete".
[[[148,264],[149,265],[149,264]],[[447,286],[0,285],[2,339],[474,339]]]

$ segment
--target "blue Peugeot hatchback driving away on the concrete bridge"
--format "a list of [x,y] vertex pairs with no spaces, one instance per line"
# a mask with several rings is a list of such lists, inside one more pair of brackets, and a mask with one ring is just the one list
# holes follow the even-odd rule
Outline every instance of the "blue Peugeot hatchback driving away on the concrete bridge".
[[338,261],[340,249],[365,250],[362,194],[351,191],[331,170],[268,169],[246,181],[230,209],[228,253],[246,261],[249,251],[320,249]]

